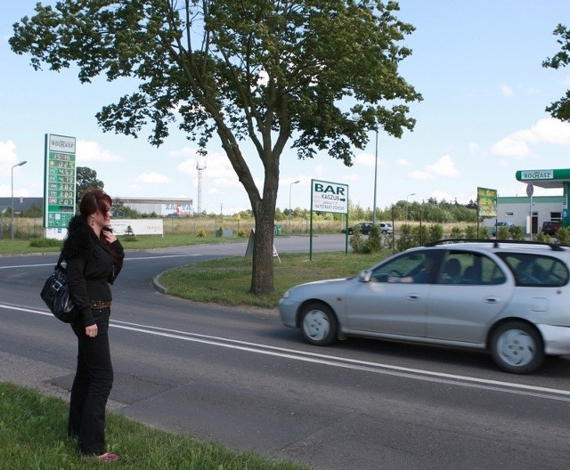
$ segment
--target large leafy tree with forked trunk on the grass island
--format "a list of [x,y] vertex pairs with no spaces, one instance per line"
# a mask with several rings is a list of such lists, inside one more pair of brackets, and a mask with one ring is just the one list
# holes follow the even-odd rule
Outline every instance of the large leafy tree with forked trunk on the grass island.
[[[398,74],[413,27],[380,0],[61,0],[37,4],[10,45],[31,65],[75,64],[81,82],[134,77],[138,90],[96,115],[104,131],[160,145],[176,123],[206,155],[216,134],[248,194],[256,237],[250,290],[273,292],[280,160],[326,150],[346,166],[371,130],[412,129],[421,95]],[[264,167],[258,190],[243,142]]]

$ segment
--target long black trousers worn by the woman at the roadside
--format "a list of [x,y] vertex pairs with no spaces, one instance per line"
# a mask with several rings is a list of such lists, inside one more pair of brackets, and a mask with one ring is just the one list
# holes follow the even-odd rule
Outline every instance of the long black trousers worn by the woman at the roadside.
[[71,387],[68,435],[77,436],[79,452],[105,453],[105,407],[113,386],[113,367],[109,349],[110,309],[96,311],[98,333],[85,335],[81,322],[71,328],[77,336],[77,372]]

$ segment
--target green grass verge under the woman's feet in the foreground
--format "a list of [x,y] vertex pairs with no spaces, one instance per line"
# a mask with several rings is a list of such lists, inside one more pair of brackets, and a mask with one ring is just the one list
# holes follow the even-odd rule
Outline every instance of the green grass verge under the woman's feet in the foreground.
[[[35,391],[0,382],[0,470],[89,469],[106,466],[82,458],[67,437],[68,404]],[[140,470],[302,470],[253,451],[227,450],[181,434],[153,429],[116,413],[107,414],[108,451],[121,456],[113,468]]]

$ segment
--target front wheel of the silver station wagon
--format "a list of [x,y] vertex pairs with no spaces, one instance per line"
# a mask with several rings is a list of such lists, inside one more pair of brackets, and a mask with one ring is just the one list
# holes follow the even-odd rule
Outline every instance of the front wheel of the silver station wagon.
[[307,343],[327,346],[337,341],[337,318],[327,304],[307,304],[301,312],[301,334]]

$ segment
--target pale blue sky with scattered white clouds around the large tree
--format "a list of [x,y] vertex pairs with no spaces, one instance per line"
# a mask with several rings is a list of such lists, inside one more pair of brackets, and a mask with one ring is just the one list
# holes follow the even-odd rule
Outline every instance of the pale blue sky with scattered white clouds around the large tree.
[[[32,16],[36,2],[0,4],[0,197],[11,196],[12,182],[14,198],[42,197],[45,134],[61,134],[77,138],[77,166],[94,169],[112,198],[193,199],[197,209],[199,164],[205,166],[203,211],[232,215],[251,208],[219,142],[208,144],[202,160],[182,131],[159,148],[146,135],[102,132],[95,114],[132,93],[129,80],[100,77],[82,85],[77,70],[35,71],[29,56],[12,53],[12,24]],[[378,152],[371,132],[350,167],[324,151],[298,160],[287,148],[281,156],[281,210],[289,202],[310,208],[312,180],[346,184],[352,203],[373,207],[375,167],[380,208],[429,198],[466,204],[476,200],[477,187],[497,190],[500,197],[525,196],[517,170],[570,168],[570,124],[545,111],[570,88],[570,68],[542,67],[560,50],[553,30],[558,23],[570,26],[568,0],[399,4],[398,18],[416,28],[403,41],[412,54],[400,64],[401,75],[423,96],[411,105],[415,129],[401,139],[380,130]],[[247,158],[261,190],[263,168],[254,152]],[[12,169],[23,160],[26,165]],[[535,196],[558,194],[561,189],[534,188]]]

